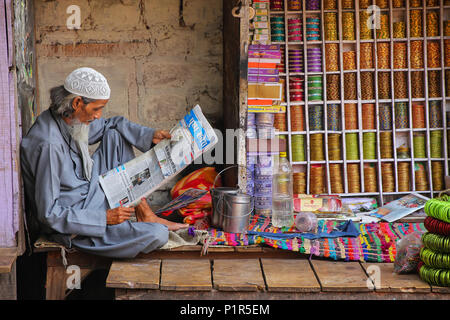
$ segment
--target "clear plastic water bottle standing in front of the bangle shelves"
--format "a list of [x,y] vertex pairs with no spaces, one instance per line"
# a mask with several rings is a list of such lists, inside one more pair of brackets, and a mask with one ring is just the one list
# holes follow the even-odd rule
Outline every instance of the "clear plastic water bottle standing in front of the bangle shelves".
[[280,152],[272,181],[272,225],[291,227],[294,224],[293,175],[286,152]]

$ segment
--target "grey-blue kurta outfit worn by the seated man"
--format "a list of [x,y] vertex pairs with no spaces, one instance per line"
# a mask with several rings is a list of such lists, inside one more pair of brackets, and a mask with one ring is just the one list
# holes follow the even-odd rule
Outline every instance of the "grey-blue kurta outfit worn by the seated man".
[[40,231],[70,248],[116,258],[132,258],[163,246],[168,229],[158,223],[126,221],[106,224],[109,209],[98,176],[132,159],[132,146],[142,152],[152,144],[153,129],[123,117],[94,120],[89,144],[100,142],[92,155],[91,181],[84,178],[82,158],[67,125],[44,111],[21,143],[21,165],[27,210]]

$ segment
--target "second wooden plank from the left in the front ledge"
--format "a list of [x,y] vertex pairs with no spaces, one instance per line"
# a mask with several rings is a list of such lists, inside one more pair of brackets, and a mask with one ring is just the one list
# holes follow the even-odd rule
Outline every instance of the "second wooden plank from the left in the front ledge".
[[203,259],[162,260],[161,290],[209,291],[211,264]]

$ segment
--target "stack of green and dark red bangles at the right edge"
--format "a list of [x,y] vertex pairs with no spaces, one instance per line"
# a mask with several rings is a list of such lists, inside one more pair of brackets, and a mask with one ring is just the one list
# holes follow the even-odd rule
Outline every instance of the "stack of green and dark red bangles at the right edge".
[[431,285],[450,287],[450,196],[428,200],[425,213],[428,232],[422,235],[420,278]]

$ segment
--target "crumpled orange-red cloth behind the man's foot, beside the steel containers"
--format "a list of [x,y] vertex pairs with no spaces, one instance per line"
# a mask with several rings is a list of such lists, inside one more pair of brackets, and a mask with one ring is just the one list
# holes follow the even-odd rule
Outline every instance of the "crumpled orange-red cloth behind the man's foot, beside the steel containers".
[[[214,167],[201,168],[185,176],[172,188],[172,190],[170,191],[172,199],[175,199],[176,197],[182,195],[186,190],[191,188],[208,190],[208,193],[206,193],[199,200],[178,210],[183,217],[203,217],[205,215],[211,215],[212,200],[209,190],[213,187],[214,179],[216,179],[216,176],[217,172]],[[216,187],[220,186],[222,186],[222,182],[220,177],[218,177],[216,181]]]

